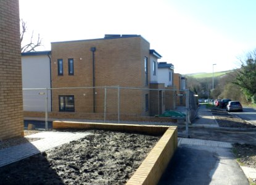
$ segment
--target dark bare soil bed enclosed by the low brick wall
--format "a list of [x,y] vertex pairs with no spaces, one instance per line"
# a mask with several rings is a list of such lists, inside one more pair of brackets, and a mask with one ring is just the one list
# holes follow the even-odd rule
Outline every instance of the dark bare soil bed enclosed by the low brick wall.
[[125,184],[160,139],[114,131],[89,132],[93,134],[1,167],[1,183]]

